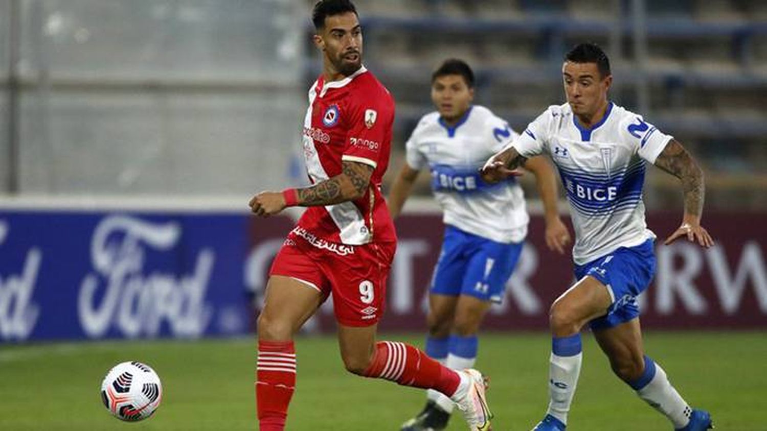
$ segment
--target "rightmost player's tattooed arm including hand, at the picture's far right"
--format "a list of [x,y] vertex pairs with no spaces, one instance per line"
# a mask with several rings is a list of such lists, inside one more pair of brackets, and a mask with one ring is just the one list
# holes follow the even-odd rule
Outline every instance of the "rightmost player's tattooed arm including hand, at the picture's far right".
[[703,198],[706,186],[703,183],[703,171],[686,149],[671,139],[663,152],[655,160],[658,168],[679,178],[684,193],[684,216],[681,226],[664,241],[673,243],[677,238],[686,236],[687,240],[699,243],[703,247],[713,246],[711,235],[700,225],[703,215]]

